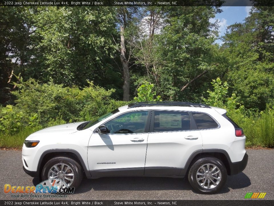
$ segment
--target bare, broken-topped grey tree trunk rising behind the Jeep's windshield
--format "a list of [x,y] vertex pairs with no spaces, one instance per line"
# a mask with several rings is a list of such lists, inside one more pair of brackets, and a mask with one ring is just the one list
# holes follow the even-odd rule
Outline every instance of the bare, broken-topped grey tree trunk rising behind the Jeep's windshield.
[[130,76],[129,76],[129,69],[128,69],[128,61],[126,60],[126,47],[125,47],[125,38],[124,38],[124,27],[120,25],[120,35],[121,35],[121,54],[120,60],[123,66],[124,72],[124,96],[123,101],[129,101],[129,89],[130,89]]

